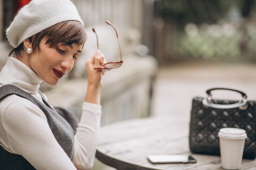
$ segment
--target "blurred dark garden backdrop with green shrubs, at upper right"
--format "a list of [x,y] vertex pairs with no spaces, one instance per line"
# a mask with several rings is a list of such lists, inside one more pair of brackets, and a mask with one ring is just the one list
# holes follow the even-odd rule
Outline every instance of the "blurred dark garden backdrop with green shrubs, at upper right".
[[165,22],[159,57],[256,62],[255,1],[158,0]]

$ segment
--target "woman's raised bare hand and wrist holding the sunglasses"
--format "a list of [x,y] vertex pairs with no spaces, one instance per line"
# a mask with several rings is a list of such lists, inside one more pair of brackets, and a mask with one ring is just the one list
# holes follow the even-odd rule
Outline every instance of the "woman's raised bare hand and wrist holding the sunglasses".
[[92,57],[85,62],[86,75],[88,79],[87,93],[85,102],[100,104],[100,93],[102,88],[102,75],[104,71],[98,71],[94,68],[100,67],[106,63],[104,55],[98,50]]

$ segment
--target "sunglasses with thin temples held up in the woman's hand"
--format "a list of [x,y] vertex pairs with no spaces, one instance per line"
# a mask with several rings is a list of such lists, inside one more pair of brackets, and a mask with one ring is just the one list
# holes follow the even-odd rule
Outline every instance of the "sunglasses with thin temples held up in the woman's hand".
[[[114,26],[113,24],[111,24],[108,20],[106,20],[106,23],[109,24],[109,25],[111,25],[111,26],[115,29],[115,32],[116,32],[116,34],[117,34],[117,30],[116,30],[115,26]],[[95,33],[95,35],[96,35],[96,38],[97,38],[97,47],[98,47],[98,50],[99,50],[98,35],[97,35],[97,33],[96,33],[96,31],[95,31],[94,28],[92,28],[92,31],[93,31],[93,32]],[[117,34],[117,41],[118,41],[118,46],[119,46],[120,61],[119,61],[119,62],[107,62],[107,63],[104,64],[103,66],[101,66],[101,67],[96,67],[96,68],[94,68],[94,69],[99,70],[99,71],[110,71],[112,68],[118,68],[118,67],[120,67],[120,66],[123,64],[118,34]]]

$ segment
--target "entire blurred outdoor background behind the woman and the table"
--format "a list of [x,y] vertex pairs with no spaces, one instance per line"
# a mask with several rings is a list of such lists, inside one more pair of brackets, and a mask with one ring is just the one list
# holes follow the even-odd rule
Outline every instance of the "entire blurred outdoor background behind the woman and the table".
[[[0,69],[11,46],[4,29],[29,0],[0,0]],[[255,0],[72,0],[88,40],[74,69],[56,87],[41,84],[51,104],[79,107],[86,92],[85,60],[99,48],[123,66],[103,76],[102,126],[148,116],[182,114],[212,87],[236,88],[256,99]],[[218,94],[216,94],[218,96]],[[221,93],[218,97],[239,99]],[[96,160],[95,170],[112,169]]]

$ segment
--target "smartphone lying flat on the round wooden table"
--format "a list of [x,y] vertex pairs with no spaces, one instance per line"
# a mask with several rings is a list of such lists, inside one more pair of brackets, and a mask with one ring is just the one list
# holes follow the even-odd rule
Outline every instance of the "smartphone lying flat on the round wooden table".
[[196,163],[190,155],[149,155],[148,161],[154,164],[160,163]]

